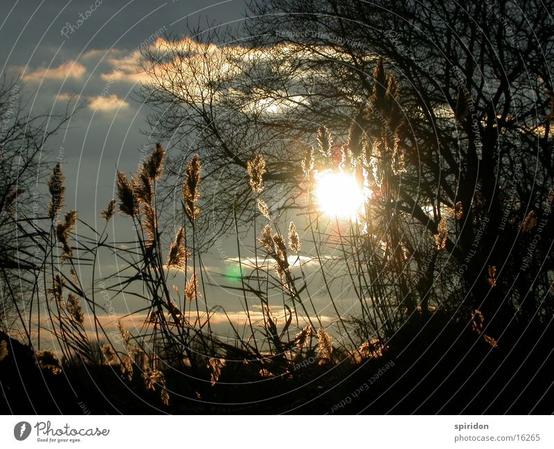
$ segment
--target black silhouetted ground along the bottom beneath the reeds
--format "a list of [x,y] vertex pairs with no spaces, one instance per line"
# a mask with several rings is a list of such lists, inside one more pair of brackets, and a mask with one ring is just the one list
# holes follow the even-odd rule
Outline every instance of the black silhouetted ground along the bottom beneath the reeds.
[[[287,378],[238,383],[227,365],[220,383],[190,385],[166,372],[170,406],[126,384],[107,366],[53,375],[15,340],[0,362],[2,414],[552,414],[554,335],[550,325],[506,329],[494,348],[470,325],[433,318],[412,323],[381,358],[301,367]],[[421,330],[421,331],[420,331]],[[0,340],[6,334],[0,334]],[[15,358],[14,358],[15,354]],[[17,359],[17,363],[15,360]],[[231,383],[233,385],[229,385]],[[179,397],[177,393],[182,396]],[[197,395],[199,392],[199,396]],[[192,400],[190,398],[193,398]],[[227,405],[225,405],[227,404]],[[82,407],[85,407],[82,409]]]

